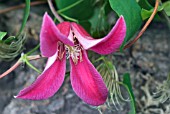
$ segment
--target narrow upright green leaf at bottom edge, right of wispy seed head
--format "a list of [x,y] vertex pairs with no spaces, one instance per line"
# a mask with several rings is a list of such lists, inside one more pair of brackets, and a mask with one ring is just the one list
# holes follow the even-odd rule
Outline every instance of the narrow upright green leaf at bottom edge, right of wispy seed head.
[[128,114],[136,114],[135,96],[133,94],[132,85],[131,85],[131,81],[130,81],[130,74],[129,73],[125,73],[123,75],[123,83],[126,85],[126,87],[128,87],[129,94],[130,94],[130,97],[131,97],[131,101],[130,101],[131,110],[129,111]]

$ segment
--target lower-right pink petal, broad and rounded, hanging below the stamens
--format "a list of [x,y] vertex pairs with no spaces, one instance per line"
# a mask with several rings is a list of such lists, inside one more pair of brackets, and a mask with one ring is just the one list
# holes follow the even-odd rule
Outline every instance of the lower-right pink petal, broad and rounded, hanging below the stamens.
[[102,77],[88,60],[84,51],[82,61],[71,63],[71,84],[75,93],[86,103],[98,106],[104,104],[107,99],[108,90]]

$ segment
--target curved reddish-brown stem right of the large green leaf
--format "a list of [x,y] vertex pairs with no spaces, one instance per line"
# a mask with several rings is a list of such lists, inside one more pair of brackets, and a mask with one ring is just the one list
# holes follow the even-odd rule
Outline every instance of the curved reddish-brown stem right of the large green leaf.
[[142,34],[145,32],[145,30],[147,29],[147,27],[153,20],[154,16],[156,15],[158,6],[159,6],[159,0],[156,0],[154,11],[153,11],[152,15],[150,16],[150,18],[148,19],[148,21],[145,23],[145,25],[143,26],[143,28],[141,29],[139,34],[136,36],[136,38],[134,38],[132,41],[130,41],[128,44],[126,44],[123,49],[127,49],[127,48],[131,47],[142,36]]

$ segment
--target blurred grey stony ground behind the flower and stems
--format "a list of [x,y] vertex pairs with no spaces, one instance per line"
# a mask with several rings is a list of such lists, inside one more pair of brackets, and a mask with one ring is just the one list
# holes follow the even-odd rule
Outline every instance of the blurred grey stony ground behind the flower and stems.
[[[5,6],[1,6],[3,8]],[[31,10],[27,24],[27,43],[25,50],[30,50],[39,42],[39,30],[42,7]],[[48,10],[48,8],[44,9]],[[0,15],[0,30],[15,34],[20,27],[22,10]],[[152,95],[156,87],[166,80],[170,72],[170,32],[163,23],[154,22],[142,38],[124,53],[114,54],[115,66],[121,76],[129,72],[132,77],[133,90],[136,97],[138,114],[169,114],[170,105],[154,101]],[[30,45],[31,44],[31,45]],[[43,70],[46,59],[32,61],[32,64]],[[15,61],[0,61],[0,73],[4,72]],[[67,78],[52,98],[44,101],[26,101],[14,99],[19,90],[30,85],[38,73],[27,66],[18,67],[14,72],[0,80],[0,114],[99,114],[96,107],[83,103],[73,92]],[[128,105],[128,103],[126,103]],[[128,106],[119,111],[107,111],[104,114],[127,114]]]

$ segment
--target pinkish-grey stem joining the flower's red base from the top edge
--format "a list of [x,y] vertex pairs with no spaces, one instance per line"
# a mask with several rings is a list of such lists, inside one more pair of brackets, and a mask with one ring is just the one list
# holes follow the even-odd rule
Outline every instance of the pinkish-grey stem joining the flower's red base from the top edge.
[[53,13],[53,15],[56,17],[56,19],[61,23],[63,22],[64,20],[58,15],[58,13],[56,12],[54,6],[53,6],[53,3],[51,0],[47,0],[48,1],[48,5]]

